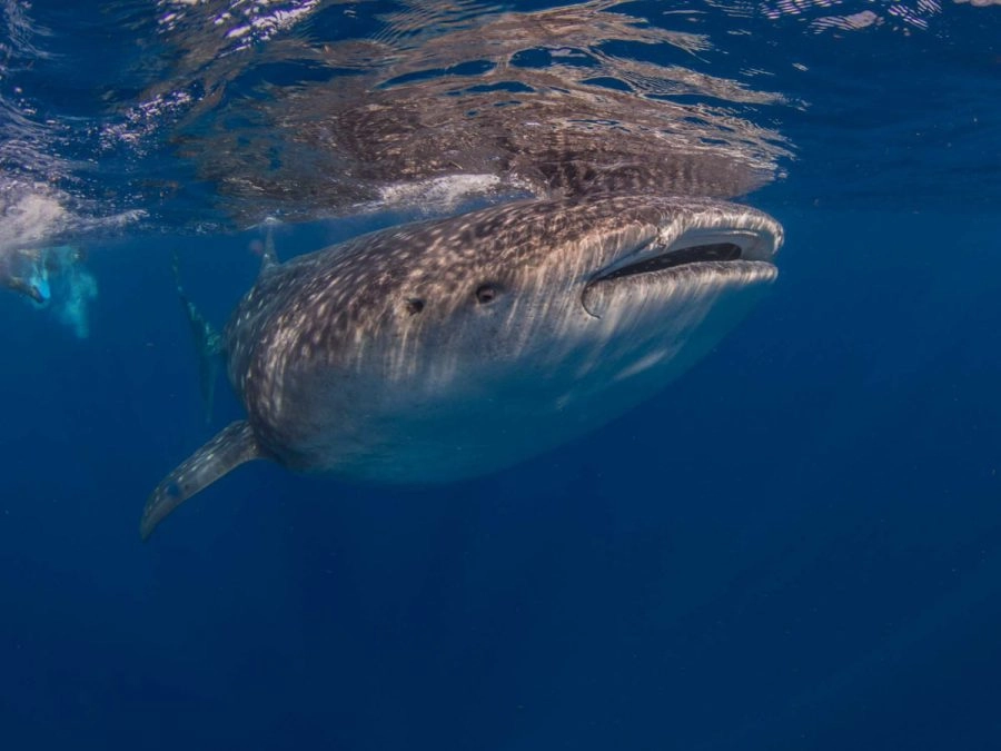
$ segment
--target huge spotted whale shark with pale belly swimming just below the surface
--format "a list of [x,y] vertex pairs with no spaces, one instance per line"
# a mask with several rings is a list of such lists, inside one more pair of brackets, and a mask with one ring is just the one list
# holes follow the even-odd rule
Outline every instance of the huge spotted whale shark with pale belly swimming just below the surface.
[[782,226],[711,198],[533,199],[392,227],[261,273],[214,345],[246,419],[149,496],[148,537],[251,460],[447,483],[622,415],[776,278]]

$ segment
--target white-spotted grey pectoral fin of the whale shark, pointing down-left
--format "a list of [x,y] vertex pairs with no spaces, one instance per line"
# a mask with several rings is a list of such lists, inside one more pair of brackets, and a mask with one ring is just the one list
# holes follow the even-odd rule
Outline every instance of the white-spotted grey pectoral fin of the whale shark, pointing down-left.
[[157,485],[142,510],[139,534],[148,538],[157,524],[192,495],[244,462],[265,456],[250,423],[230,423]]

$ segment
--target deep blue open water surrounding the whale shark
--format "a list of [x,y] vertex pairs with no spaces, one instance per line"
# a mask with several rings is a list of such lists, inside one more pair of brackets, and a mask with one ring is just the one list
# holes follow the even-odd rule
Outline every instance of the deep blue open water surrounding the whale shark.
[[[171,254],[221,323],[260,230],[181,231],[181,201],[80,240],[86,338],[3,291],[0,745],[1001,748],[1001,7],[767,4],[732,36],[810,102],[759,116],[796,154],[746,198],[785,226],[779,281],[657,398],[512,470],[379,490],[255,463],[142,544],[150,488],[240,416],[220,384],[204,421]],[[886,20],[807,31],[834,10]],[[140,158],[95,154],[69,194]]]

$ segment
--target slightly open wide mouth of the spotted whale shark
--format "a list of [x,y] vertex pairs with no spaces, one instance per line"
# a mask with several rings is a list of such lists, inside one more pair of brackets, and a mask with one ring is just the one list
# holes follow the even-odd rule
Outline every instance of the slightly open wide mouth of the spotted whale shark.
[[654,240],[602,269],[591,284],[624,277],[661,274],[697,264],[722,269],[726,264],[757,261],[771,265],[780,239],[766,229],[698,228],[682,234],[672,243]]

